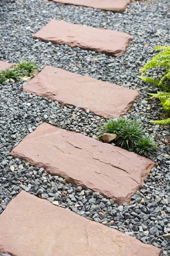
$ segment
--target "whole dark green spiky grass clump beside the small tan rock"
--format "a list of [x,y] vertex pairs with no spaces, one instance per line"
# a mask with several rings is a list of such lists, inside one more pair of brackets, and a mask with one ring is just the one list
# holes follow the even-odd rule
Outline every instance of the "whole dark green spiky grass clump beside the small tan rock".
[[148,156],[150,152],[157,150],[155,140],[152,137],[144,137],[144,130],[139,120],[117,117],[109,119],[99,130],[98,138],[105,133],[116,134],[115,145],[128,151]]

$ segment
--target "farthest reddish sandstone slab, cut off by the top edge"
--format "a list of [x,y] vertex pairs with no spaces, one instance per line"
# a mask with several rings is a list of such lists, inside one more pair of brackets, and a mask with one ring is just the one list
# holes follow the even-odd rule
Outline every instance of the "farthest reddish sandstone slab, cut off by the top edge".
[[95,9],[124,12],[130,0],[53,0],[57,3],[74,4]]

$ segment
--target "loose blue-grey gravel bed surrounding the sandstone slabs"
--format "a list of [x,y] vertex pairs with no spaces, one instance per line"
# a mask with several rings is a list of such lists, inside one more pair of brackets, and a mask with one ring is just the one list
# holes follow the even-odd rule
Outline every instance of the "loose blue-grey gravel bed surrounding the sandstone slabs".
[[[51,18],[127,32],[134,35],[135,40],[119,58],[33,40],[31,36]],[[125,116],[140,118],[146,135],[153,136],[159,147],[159,151],[150,156],[156,161],[156,168],[146,183],[129,206],[118,206],[113,200],[65,183],[60,177],[51,177],[42,168],[29,166],[10,155],[11,149],[42,122],[95,137],[97,127],[105,119],[84,112],[80,107],[62,106],[31,96],[21,91],[21,82],[0,84],[0,213],[24,189],[160,247],[162,256],[170,255],[170,237],[166,238],[170,236],[167,235],[170,233],[170,131],[169,126],[149,123],[151,119],[160,119],[163,111],[157,101],[146,101],[146,93],[157,89],[137,78],[139,68],[155,54],[153,47],[170,43],[170,2],[135,2],[126,12],[118,14],[47,3],[46,0],[3,1],[0,2],[0,22],[2,61],[16,63],[21,58],[34,58],[40,70],[52,65],[139,90],[141,97]]]

